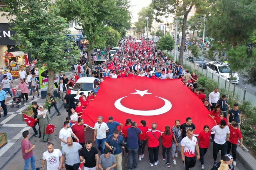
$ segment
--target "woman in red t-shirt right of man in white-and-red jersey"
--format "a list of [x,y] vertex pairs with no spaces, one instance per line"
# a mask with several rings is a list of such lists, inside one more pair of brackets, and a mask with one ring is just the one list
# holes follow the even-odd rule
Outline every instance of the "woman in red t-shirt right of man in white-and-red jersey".
[[201,131],[197,137],[197,139],[200,140],[199,153],[200,153],[201,169],[202,167],[204,167],[203,156],[207,152],[207,149],[209,148],[209,145],[210,145],[211,132],[209,130],[210,130],[209,126],[204,125],[203,131]]

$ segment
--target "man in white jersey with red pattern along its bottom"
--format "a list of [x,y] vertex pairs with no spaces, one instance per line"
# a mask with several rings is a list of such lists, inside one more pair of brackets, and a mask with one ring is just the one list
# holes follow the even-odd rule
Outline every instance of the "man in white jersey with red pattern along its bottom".
[[185,170],[195,166],[196,158],[200,159],[199,146],[196,137],[193,136],[193,129],[187,130],[187,136],[181,141],[181,160],[184,162]]

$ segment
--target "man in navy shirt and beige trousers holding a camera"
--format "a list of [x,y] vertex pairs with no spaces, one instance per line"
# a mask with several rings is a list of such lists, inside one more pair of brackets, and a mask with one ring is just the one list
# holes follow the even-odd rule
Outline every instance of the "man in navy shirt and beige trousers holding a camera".
[[[109,134],[109,133],[108,133]],[[117,129],[113,130],[112,135],[109,135],[105,141],[105,146],[111,150],[111,153],[116,157],[117,160],[117,170],[122,170],[122,149],[125,148],[121,146],[120,142],[124,141],[122,135],[119,135]]]

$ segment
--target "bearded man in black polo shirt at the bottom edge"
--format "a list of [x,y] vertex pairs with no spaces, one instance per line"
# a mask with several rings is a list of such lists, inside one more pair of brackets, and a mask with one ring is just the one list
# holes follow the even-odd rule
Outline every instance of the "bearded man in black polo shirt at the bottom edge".
[[80,159],[84,162],[84,169],[98,169],[99,154],[97,148],[92,146],[91,140],[85,142],[85,147],[80,152]]

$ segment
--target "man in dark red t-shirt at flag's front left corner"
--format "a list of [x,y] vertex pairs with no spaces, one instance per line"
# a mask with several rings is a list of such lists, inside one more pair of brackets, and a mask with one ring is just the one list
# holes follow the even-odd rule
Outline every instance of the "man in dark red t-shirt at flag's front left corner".
[[[79,139],[79,144],[82,145],[82,147],[84,147],[84,143],[85,143],[85,138],[84,138],[84,130],[86,128],[84,128],[84,120],[82,118],[79,118],[77,121],[77,124],[75,124],[72,127],[72,131],[75,134],[75,136]],[[77,140],[75,139],[75,142],[77,142]]]

